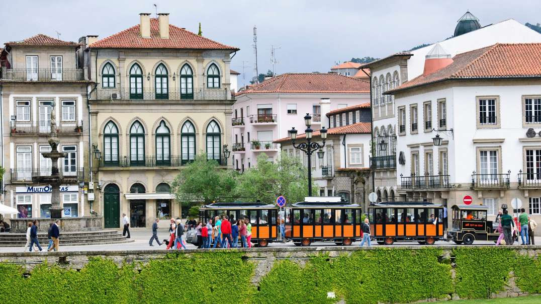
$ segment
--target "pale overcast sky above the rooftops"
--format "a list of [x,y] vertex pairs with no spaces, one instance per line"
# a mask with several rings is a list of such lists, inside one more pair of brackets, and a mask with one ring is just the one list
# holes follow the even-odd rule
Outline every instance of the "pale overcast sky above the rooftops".
[[[246,83],[253,75],[253,27],[258,27],[258,68],[276,73],[328,72],[351,57],[382,57],[421,43],[452,36],[456,21],[469,9],[481,25],[513,18],[541,22],[540,1],[320,1],[320,0],[95,0],[1,1],[0,41],[22,40],[37,33],[62,40],[107,37],[139,22],[138,13],[169,12],[169,22],[240,48],[232,69]],[[242,85],[242,75],[239,85]]]

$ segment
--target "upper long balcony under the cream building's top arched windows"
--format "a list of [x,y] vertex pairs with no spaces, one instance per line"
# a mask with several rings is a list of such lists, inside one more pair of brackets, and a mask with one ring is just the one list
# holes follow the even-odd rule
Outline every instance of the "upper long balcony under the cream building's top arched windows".
[[98,87],[90,96],[91,100],[231,100],[233,91],[229,89],[194,89],[192,94],[181,94],[177,90],[161,91],[155,89],[131,90]]

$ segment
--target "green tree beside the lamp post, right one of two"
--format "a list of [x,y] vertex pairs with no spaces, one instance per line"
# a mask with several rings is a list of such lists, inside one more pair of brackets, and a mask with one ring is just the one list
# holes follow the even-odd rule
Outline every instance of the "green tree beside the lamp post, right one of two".
[[[288,202],[302,202],[308,195],[307,170],[302,163],[283,153],[276,163],[268,161],[261,153],[258,166],[248,169],[237,177],[235,194],[238,197],[260,199],[274,204],[276,197],[283,195]],[[317,187],[313,185],[315,191]]]

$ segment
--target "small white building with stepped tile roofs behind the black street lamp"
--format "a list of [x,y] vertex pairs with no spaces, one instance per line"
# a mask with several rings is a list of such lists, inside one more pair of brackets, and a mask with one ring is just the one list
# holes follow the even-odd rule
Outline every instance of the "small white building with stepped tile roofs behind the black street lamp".
[[[311,156],[312,180],[319,187],[320,196],[341,196],[347,202],[359,203],[366,208],[371,192],[371,174],[368,162],[371,148],[370,103],[328,111],[331,102],[322,99],[322,115],[327,119],[322,126],[328,128],[327,140],[322,149],[323,158]],[[302,130],[302,129],[301,129]],[[306,141],[306,134],[299,134],[296,145]],[[319,131],[312,141],[322,145]],[[308,157],[294,148],[291,137],[276,140],[282,153],[302,159],[308,167]],[[313,193],[315,194],[315,193]]]

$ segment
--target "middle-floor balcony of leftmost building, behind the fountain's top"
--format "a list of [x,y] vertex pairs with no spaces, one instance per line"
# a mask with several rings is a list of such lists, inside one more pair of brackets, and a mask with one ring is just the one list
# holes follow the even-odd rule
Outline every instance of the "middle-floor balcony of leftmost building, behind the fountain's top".
[[[56,132],[59,134],[82,134],[82,121],[58,121]],[[11,135],[49,134],[51,133],[51,122],[42,121],[10,121]]]

